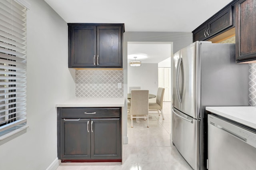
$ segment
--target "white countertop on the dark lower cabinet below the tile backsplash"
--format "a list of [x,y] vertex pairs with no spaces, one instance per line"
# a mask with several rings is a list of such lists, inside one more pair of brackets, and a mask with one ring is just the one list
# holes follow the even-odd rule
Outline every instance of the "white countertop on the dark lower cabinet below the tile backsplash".
[[124,107],[124,97],[76,97],[58,103],[55,107]]

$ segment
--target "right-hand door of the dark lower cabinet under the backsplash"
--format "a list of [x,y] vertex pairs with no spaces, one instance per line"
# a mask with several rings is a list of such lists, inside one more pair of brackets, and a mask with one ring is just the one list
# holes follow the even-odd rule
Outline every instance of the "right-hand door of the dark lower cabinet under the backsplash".
[[91,158],[121,159],[120,118],[91,121]]

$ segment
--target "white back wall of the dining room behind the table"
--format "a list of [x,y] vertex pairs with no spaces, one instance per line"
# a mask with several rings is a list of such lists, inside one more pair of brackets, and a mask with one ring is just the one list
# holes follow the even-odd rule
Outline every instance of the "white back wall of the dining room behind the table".
[[130,67],[128,64],[128,89],[131,86],[140,86],[149,93],[157,93],[158,88],[158,64],[142,63],[140,67]]

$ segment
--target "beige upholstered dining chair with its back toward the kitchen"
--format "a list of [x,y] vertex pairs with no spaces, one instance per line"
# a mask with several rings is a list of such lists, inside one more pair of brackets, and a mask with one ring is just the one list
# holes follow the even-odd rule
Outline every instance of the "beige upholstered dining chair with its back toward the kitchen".
[[[148,126],[148,90],[132,90],[131,91],[131,106],[130,119],[133,118],[147,119]],[[131,125],[133,127],[133,124]]]

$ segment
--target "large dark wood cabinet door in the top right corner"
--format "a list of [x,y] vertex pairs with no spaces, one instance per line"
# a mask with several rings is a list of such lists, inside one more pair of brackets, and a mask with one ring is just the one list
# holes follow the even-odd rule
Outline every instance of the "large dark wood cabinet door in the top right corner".
[[256,0],[236,3],[236,60],[256,60]]

